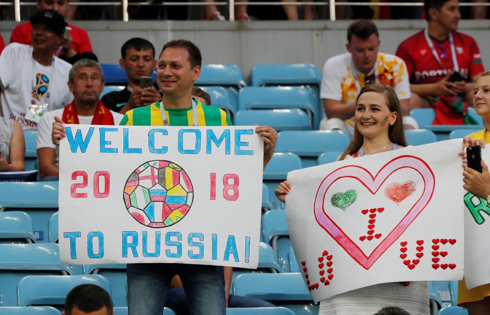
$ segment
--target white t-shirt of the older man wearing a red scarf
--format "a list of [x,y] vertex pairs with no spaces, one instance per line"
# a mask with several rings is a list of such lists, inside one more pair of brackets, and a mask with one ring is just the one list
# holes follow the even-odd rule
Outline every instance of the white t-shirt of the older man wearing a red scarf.
[[[41,117],[41,121],[39,122],[37,128],[36,149],[42,147],[51,147],[53,149],[56,149],[56,160],[55,160],[56,167],[59,167],[59,145],[53,145],[51,141],[51,131],[53,128],[54,116],[58,116],[59,118],[61,118],[63,116],[63,110],[64,108],[60,108],[45,113],[43,117]],[[112,114],[112,117],[114,118],[114,125],[119,125],[119,123],[121,122],[124,116],[113,111],[110,112]],[[78,115],[78,122],[81,125],[89,125],[92,124],[93,118],[94,118],[93,115],[92,116]]]

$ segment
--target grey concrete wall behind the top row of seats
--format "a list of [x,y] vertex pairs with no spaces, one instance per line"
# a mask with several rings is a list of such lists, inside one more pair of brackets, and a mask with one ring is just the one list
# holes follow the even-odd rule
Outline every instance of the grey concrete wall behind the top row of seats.
[[[172,39],[196,43],[203,63],[233,63],[249,77],[254,65],[262,63],[313,63],[320,70],[325,60],[345,51],[346,29],[351,21],[256,21],[252,23],[203,21],[75,21],[89,33],[101,63],[117,63],[120,48],[131,37],[152,42],[157,53]],[[381,51],[394,53],[398,44],[426,26],[420,20],[377,21]],[[0,22],[0,34],[10,40],[14,22]],[[465,20],[459,30],[473,36],[490,69],[490,20]]]

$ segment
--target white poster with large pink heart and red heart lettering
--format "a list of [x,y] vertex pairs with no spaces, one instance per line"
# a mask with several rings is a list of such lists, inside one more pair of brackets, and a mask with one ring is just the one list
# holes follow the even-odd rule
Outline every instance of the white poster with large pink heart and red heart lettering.
[[463,278],[461,139],[288,174],[289,233],[314,301],[397,281]]

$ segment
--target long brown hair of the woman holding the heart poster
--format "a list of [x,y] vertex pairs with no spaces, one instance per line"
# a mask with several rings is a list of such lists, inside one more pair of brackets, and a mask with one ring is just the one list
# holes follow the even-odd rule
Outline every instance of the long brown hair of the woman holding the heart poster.
[[[398,113],[398,115],[396,116],[395,123],[393,123],[393,125],[390,125],[390,127],[388,128],[388,137],[390,138],[390,141],[392,143],[401,146],[407,146],[407,141],[405,140],[405,134],[403,133],[403,121],[402,121],[401,111],[400,111],[400,101],[398,100],[398,97],[396,96],[396,93],[392,89],[392,87],[378,84],[378,83],[369,84],[365,86],[361,90],[361,92],[359,92],[359,95],[357,96],[356,99],[356,104],[359,101],[359,97],[361,97],[361,95],[363,95],[363,93],[366,92],[376,92],[382,94],[385,97],[386,106],[388,106],[390,112]],[[359,132],[359,130],[357,130],[357,127],[354,127],[354,138],[350,142],[345,152],[343,152],[339,160],[342,161],[347,154],[352,155],[357,151],[359,151],[363,143],[364,143],[363,135]]]

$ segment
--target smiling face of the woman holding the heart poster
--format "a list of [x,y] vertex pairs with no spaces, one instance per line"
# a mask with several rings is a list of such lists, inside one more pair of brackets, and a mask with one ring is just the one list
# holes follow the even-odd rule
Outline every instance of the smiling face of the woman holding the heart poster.
[[394,124],[398,114],[391,112],[386,105],[383,94],[366,92],[357,101],[355,119],[356,128],[368,139],[388,134],[390,125]]

